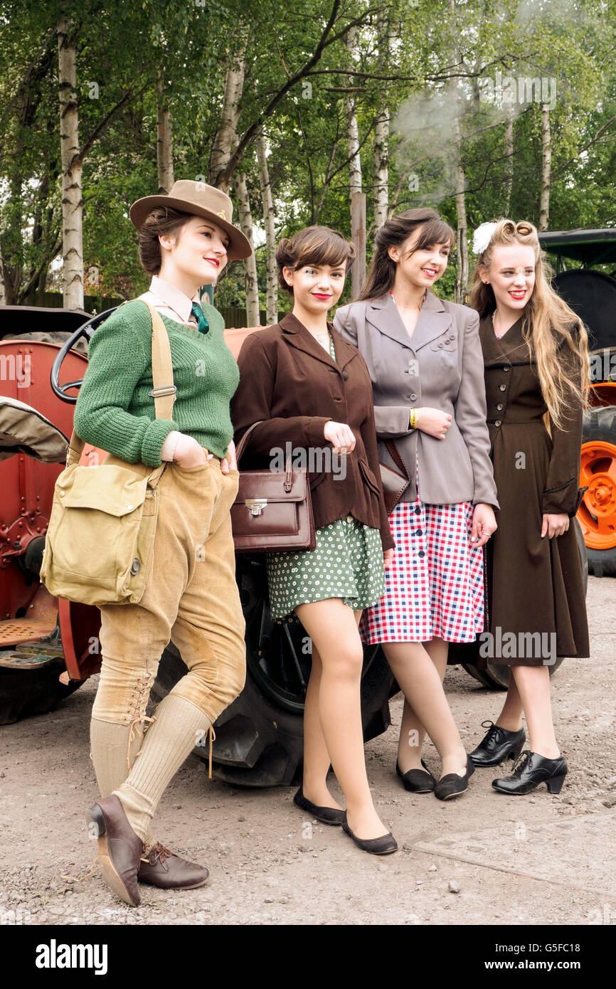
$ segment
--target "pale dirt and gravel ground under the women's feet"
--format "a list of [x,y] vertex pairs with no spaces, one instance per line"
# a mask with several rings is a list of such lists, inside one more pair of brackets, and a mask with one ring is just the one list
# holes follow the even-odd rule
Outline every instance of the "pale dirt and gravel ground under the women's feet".
[[[592,660],[553,680],[557,735],[570,765],[559,796],[495,793],[498,769],[442,803],[411,795],[394,773],[401,702],[366,747],[383,820],[400,851],[364,854],[338,828],[305,820],[291,788],[245,790],[209,781],[191,756],[163,797],[156,834],[211,870],[207,886],[142,886],[121,904],[98,875],[84,809],[96,795],[88,726],[96,677],[50,714],[0,729],[0,914],[32,924],[615,924],[616,581],[590,578]],[[501,694],[464,671],[447,674],[471,749]],[[428,747],[426,762],[438,763]],[[459,891],[451,891],[450,884]],[[14,911],[14,914],[7,913]]]

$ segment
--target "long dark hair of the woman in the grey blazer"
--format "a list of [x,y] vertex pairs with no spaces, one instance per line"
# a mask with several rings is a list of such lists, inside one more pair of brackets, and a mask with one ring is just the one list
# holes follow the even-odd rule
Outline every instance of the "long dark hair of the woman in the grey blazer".
[[456,241],[456,234],[451,226],[436,210],[431,210],[429,207],[405,210],[396,217],[390,217],[375,237],[375,250],[359,301],[380,299],[381,296],[387,295],[396,281],[397,267],[396,261],[389,255],[388,248],[399,247],[416,230],[419,230],[419,237],[407,252],[407,257],[416,250],[426,250],[432,244],[448,244],[453,247]]

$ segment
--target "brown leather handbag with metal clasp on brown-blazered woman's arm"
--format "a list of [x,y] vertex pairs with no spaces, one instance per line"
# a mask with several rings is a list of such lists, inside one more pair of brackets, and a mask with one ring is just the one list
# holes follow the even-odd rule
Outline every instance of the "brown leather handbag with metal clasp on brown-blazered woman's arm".
[[[235,451],[238,468],[248,437],[259,422],[253,422],[239,441]],[[313,550],[316,534],[306,468],[293,470],[289,456],[284,471],[240,471],[231,528],[236,553]]]

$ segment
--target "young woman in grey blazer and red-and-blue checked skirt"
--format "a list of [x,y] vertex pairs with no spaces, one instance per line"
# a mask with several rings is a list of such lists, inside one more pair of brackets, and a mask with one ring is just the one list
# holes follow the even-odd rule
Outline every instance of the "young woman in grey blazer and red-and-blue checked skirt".
[[[399,473],[393,441],[410,480],[390,515],[386,593],[360,631],[383,645],[404,694],[396,771],[406,789],[440,799],[463,793],[474,771],[443,677],[448,643],[484,629],[482,546],[498,507],[479,318],[431,291],[453,242],[434,210],[392,217],[377,233],[363,295],[334,318],[370,371],[380,460]],[[438,781],[421,761],[426,731],[442,760]]]

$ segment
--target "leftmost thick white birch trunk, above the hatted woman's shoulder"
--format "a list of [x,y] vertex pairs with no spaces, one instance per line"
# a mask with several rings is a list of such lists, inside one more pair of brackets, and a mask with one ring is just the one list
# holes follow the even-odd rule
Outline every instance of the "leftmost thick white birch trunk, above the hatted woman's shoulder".
[[57,27],[62,165],[62,295],[64,309],[83,309],[82,162],[79,155],[79,113],[74,92],[77,85],[76,47],[69,35],[71,27],[66,19],[60,20]]

